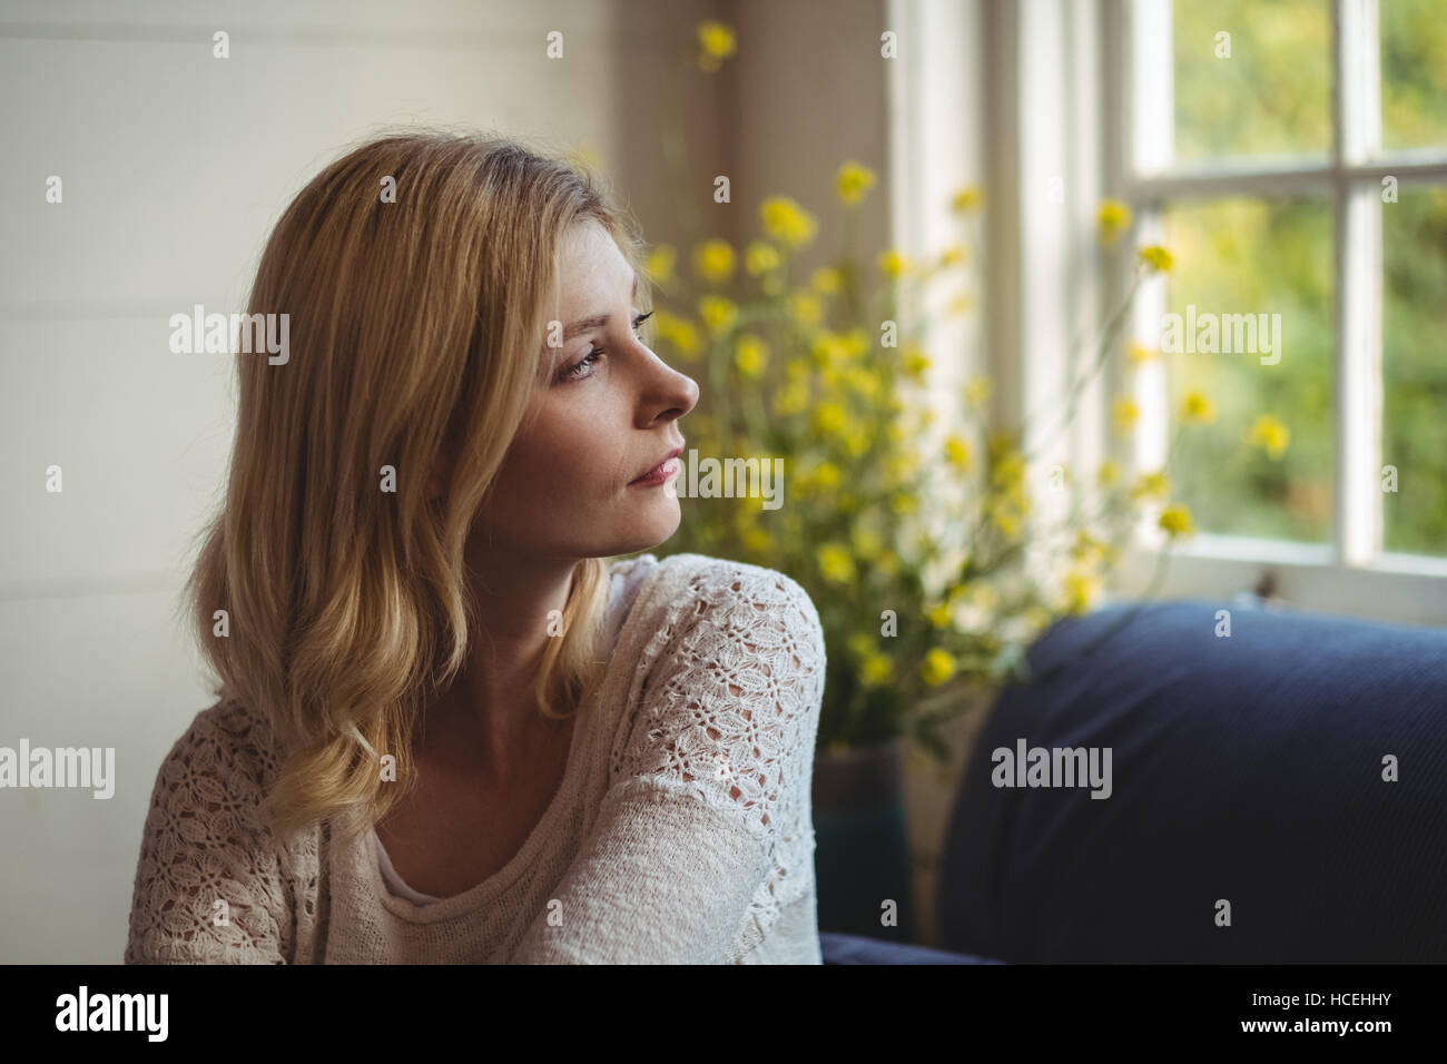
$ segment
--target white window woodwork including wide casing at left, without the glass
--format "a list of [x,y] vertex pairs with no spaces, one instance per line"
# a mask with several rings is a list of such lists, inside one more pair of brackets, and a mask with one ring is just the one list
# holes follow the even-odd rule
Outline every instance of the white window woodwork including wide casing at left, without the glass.
[[[938,250],[941,235],[949,230],[941,190],[964,181],[985,188],[984,256],[988,271],[981,276],[984,314],[961,332],[946,332],[926,340],[939,350],[983,356],[971,372],[988,372],[996,382],[991,415],[997,424],[1023,424],[1039,433],[1026,417],[1042,402],[1065,394],[1085,359],[1069,356],[1071,343],[1100,336],[1111,311],[1120,305],[1130,282],[1130,263],[1120,272],[1101,269],[1095,235],[1095,211],[1104,197],[1133,201],[1163,198],[1181,191],[1281,195],[1304,184],[1325,181],[1350,187],[1391,172],[1401,185],[1417,181],[1447,182],[1443,152],[1393,153],[1369,159],[1362,145],[1338,145],[1327,165],[1298,169],[1217,168],[1215,172],[1134,175],[1132,159],[1133,116],[1127,90],[1133,84],[1129,46],[1132,9],[1136,0],[886,0],[886,28],[896,30],[900,56],[888,64],[890,145],[888,159],[891,223],[897,246],[909,255]],[[1336,0],[1333,7],[1333,69],[1341,62],[1344,32],[1351,19],[1369,9],[1367,0]],[[1375,25],[1375,22],[1373,22]],[[1378,48],[1373,41],[1370,54]],[[1359,80],[1362,69],[1353,69]],[[1343,107],[1360,107],[1360,93],[1351,93],[1340,78],[1333,83],[1333,130],[1341,127]],[[1048,178],[1061,177],[1062,195],[1043,194]],[[1338,197],[1338,203],[1343,200]],[[1149,223],[1149,214],[1146,221]],[[1137,217],[1140,211],[1137,210]],[[1360,226],[1347,211],[1334,220],[1337,229]],[[1147,229],[1143,226],[1142,229]],[[1354,240],[1363,240],[1360,229]],[[1139,237],[1146,232],[1136,233]],[[1378,235],[1379,240],[1379,235]],[[1341,242],[1334,242],[1337,269],[1344,262]],[[1121,256],[1129,259],[1129,256]],[[1376,278],[1380,265],[1376,262]],[[1375,321],[1376,310],[1360,313],[1360,276],[1337,276],[1337,291],[1356,300],[1347,316],[1338,298],[1334,373],[1347,379],[1360,368],[1340,366],[1346,345],[1343,323],[1354,330]],[[1378,281],[1379,284],[1379,281]],[[1142,303],[1159,284],[1142,288]],[[1159,323],[1159,313],[1156,314]],[[1372,363],[1380,365],[1380,326],[1376,324]],[[1130,460],[1123,444],[1111,439],[1107,411],[1110,400],[1139,379],[1127,373],[1124,345],[1081,394],[1077,420],[1061,433],[1051,450],[1032,465],[1032,484],[1040,485],[1053,462],[1075,469],[1094,469],[1106,456]],[[1147,366],[1150,363],[1146,363]],[[962,368],[949,368],[955,373]],[[1372,442],[1360,450],[1362,468],[1379,468],[1380,375],[1375,387],[1353,389],[1357,407],[1344,410],[1337,395],[1337,459],[1334,476],[1334,541],[1328,546],[1266,539],[1198,534],[1171,547],[1172,557],[1158,594],[1168,598],[1227,601],[1236,592],[1257,588],[1269,572],[1278,591],[1292,605],[1321,612],[1375,617],[1386,621],[1447,625],[1447,559],[1417,554],[1363,554],[1362,544],[1379,541],[1380,527],[1363,537],[1357,512],[1340,484],[1360,481],[1341,476],[1341,423],[1349,433],[1365,428]],[[1375,411],[1375,413],[1373,413]],[[1168,428],[1165,407],[1142,411],[1142,431],[1132,447],[1156,442],[1163,460]],[[1152,426],[1152,417],[1162,424]],[[1027,446],[1039,443],[1027,439]],[[1150,457],[1146,455],[1146,457]],[[1370,460],[1367,460],[1370,459]],[[1350,470],[1349,470],[1350,472]],[[1380,502],[1379,475],[1370,486]],[[1037,497],[1048,492],[1035,491]],[[1341,520],[1346,510],[1346,521]],[[1351,528],[1343,534],[1343,528]],[[1139,595],[1158,569],[1162,550],[1159,531],[1143,527],[1121,553],[1107,585],[1110,596]]]

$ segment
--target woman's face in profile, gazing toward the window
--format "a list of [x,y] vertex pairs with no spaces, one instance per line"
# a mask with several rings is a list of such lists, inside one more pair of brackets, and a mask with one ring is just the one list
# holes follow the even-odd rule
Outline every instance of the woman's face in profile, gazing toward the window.
[[485,521],[491,543],[559,559],[655,547],[679,527],[676,476],[634,481],[683,446],[676,421],[699,387],[634,332],[634,272],[608,230],[574,226],[561,271],[561,324],[553,327],[561,346],[538,337],[544,384],[499,472]]

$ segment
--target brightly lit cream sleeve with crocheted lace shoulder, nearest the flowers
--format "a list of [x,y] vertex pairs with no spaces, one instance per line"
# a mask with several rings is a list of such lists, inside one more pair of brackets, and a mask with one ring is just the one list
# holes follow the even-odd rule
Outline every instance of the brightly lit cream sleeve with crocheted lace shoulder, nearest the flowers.
[[514,960],[737,960],[812,884],[825,646],[807,594],[715,562],[670,608],[650,659],[593,834]]

